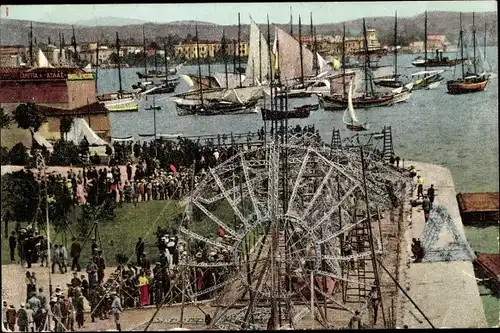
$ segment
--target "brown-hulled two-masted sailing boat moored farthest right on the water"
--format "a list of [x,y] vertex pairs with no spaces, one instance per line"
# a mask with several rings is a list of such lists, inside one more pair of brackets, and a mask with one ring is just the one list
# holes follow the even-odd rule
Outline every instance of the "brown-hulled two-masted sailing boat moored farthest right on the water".
[[[450,80],[446,83],[449,94],[467,94],[478,91],[483,91],[488,85],[489,75],[484,71],[477,74],[476,64],[476,27],[474,26],[474,13],[472,13],[472,42],[474,47],[473,72],[465,72],[464,64],[462,63],[462,77]],[[460,51],[463,58],[464,53],[464,31],[462,30],[462,13],[460,13]]]

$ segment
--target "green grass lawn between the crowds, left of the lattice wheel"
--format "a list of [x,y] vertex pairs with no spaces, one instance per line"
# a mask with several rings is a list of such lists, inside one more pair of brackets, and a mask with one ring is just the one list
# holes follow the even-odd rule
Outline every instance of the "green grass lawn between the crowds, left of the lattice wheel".
[[[181,213],[184,207],[181,206],[180,201],[147,201],[139,202],[137,206],[133,204],[123,204],[116,209],[116,217],[113,221],[101,222],[98,225],[98,231],[102,242],[103,254],[105,256],[108,266],[115,266],[115,255],[123,253],[130,257],[134,255],[133,262],[135,262],[135,244],[137,238],[142,237],[146,244],[146,252],[152,263],[159,255],[158,249],[154,245],[156,242],[155,231],[157,226],[166,227],[172,222],[174,216]],[[75,223],[75,222],[74,222]],[[74,224],[73,223],[73,224]],[[25,224],[22,224],[23,226]],[[9,230],[14,230],[15,223],[9,223]],[[73,228],[75,231],[75,228]],[[2,225],[3,231],[3,225]],[[76,232],[76,231],[75,231]],[[42,233],[44,233],[42,231]],[[3,235],[3,233],[2,233]],[[51,230],[51,238],[54,241],[56,233]],[[67,248],[71,245],[71,236],[67,236]],[[55,239],[56,243],[63,242],[63,236],[60,234]],[[83,246],[83,240],[80,240]],[[2,237],[2,264],[9,264],[9,245],[8,240]],[[82,251],[81,265],[86,266],[90,258],[90,245],[92,241],[89,239]],[[98,242],[99,244],[99,242]],[[17,251],[16,251],[16,259]]]

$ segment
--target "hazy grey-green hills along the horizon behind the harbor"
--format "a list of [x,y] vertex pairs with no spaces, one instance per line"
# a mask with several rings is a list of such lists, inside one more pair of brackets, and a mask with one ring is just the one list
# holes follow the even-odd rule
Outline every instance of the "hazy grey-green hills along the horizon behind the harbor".
[[[107,19],[107,18],[105,18]],[[101,21],[102,19],[97,19]],[[125,19],[118,19],[125,20]],[[128,19],[127,19],[128,20]],[[484,24],[487,24],[488,29],[488,43],[490,45],[498,45],[498,28],[497,28],[497,12],[483,12],[476,13],[476,27],[478,30],[478,40],[482,44],[484,35]],[[472,26],[472,13],[462,13],[462,25],[470,31]],[[116,32],[120,33],[120,38],[130,41],[136,41],[138,44],[142,43],[142,27],[145,25],[146,37],[153,40],[167,35],[178,35],[181,38],[186,38],[188,34],[195,35],[195,22],[196,21],[177,21],[171,23],[144,23],[142,20],[128,20],[129,24],[107,26],[87,26],[75,25],[75,35],[77,43],[90,42],[100,40],[101,42],[113,42],[116,38]],[[80,22],[80,23],[85,23]],[[87,21],[86,24],[90,22]],[[97,22],[95,22],[97,23]],[[120,22],[118,22],[120,23]],[[272,24],[272,23],[271,23]],[[14,45],[14,44],[28,44],[29,21],[2,19],[0,24],[0,44]],[[362,19],[352,20],[345,22],[346,31],[351,35],[359,35],[362,31]],[[382,44],[391,43],[393,39],[394,17],[371,17],[366,19],[367,28],[374,28],[377,30],[379,39]],[[285,31],[290,31],[288,24],[277,24],[278,27]],[[259,24],[260,29],[267,36],[267,25]],[[332,24],[319,24],[315,25],[318,34],[341,35],[342,23]],[[241,38],[248,39],[249,25],[242,25]],[[225,30],[228,38],[236,39],[238,37],[238,26],[222,26],[209,22],[198,22],[198,33],[200,39],[219,40],[222,37],[223,30]],[[298,32],[298,25],[294,25],[294,32]],[[456,42],[459,32],[459,13],[458,12],[429,12],[428,13],[428,32],[429,33],[443,33],[448,37],[452,43]],[[304,22],[302,27],[304,35],[309,35],[309,23]],[[48,37],[52,41],[57,40],[59,32],[64,33],[67,43],[70,41],[71,25],[68,24],[53,24],[33,22],[33,35],[37,38],[38,42],[46,42]],[[422,40],[424,34],[424,14],[419,14],[414,17],[399,17],[398,18],[398,38],[400,43],[408,40]]]

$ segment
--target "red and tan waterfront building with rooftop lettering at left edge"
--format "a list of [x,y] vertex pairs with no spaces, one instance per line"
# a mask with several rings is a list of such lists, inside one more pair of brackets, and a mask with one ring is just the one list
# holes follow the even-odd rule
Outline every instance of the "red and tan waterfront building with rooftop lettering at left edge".
[[[80,68],[2,67],[0,103],[8,114],[21,103],[34,103],[47,117],[40,128],[40,134],[46,139],[60,138],[59,124],[64,116],[85,117],[102,139],[111,137],[108,112],[97,102],[94,73],[86,73]],[[2,141],[10,131],[20,136],[20,129],[11,125],[9,130],[2,130]],[[24,132],[29,136],[28,131]]]

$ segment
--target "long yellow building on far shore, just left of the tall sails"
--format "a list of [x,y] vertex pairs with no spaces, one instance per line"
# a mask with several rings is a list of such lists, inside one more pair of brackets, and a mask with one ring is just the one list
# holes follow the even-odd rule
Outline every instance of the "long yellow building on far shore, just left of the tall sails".
[[[237,40],[227,40],[226,50],[229,55],[235,54],[234,46],[237,43]],[[200,58],[213,58],[218,52],[221,51],[222,44],[220,41],[200,40],[198,41],[198,48]],[[241,57],[248,57],[248,42],[240,41],[239,49]],[[237,52],[238,51],[236,51],[236,54]],[[176,45],[175,56],[186,60],[196,59],[198,57],[196,41],[182,42],[179,45]]]

